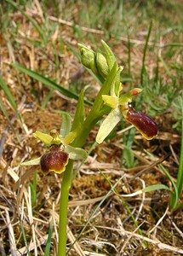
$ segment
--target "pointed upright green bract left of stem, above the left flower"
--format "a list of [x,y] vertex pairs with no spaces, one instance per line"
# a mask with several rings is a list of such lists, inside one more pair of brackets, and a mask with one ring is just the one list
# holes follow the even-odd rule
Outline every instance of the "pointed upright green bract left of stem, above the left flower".
[[71,131],[77,129],[78,126],[83,125],[85,118],[84,101],[83,101],[83,90],[80,93],[79,100],[77,102],[77,110],[72,123]]

